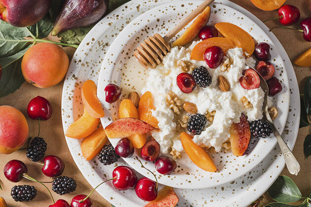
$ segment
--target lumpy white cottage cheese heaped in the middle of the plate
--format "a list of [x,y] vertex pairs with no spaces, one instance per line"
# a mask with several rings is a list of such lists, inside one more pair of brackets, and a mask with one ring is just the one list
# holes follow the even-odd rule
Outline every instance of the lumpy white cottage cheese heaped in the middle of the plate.
[[[208,68],[204,61],[195,61],[190,59],[191,51],[194,45],[189,48],[171,48],[164,59],[163,64],[151,69],[146,86],[142,93],[150,91],[155,99],[156,109],[152,111],[153,116],[158,121],[160,131],[152,133],[153,137],[160,144],[161,152],[167,153],[172,147],[174,150],[183,151],[180,141],[180,132],[177,132],[177,123],[175,114],[166,104],[166,93],[174,92],[181,101],[196,104],[198,113],[206,114],[207,111],[216,111],[213,123],[206,126],[205,130],[194,136],[193,140],[201,146],[213,146],[216,151],[220,151],[222,144],[230,138],[231,124],[239,122],[241,113],[247,115],[248,120],[257,120],[263,117],[262,106],[264,92],[261,88],[245,90],[239,84],[239,78],[247,63],[250,66],[255,65],[253,58],[245,58],[241,48],[233,48],[227,51],[227,57],[232,61],[232,65],[226,71],[221,70],[221,66],[216,69]],[[177,67],[177,61],[186,60],[194,64],[195,68],[204,66],[212,76],[212,84],[206,88],[196,87],[190,94],[183,93],[176,84],[176,77],[184,72]],[[223,75],[230,83],[231,90],[223,92],[218,87],[218,76]],[[253,104],[253,107],[245,109],[242,97],[246,97]],[[185,129],[185,132],[188,132]],[[189,133],[189,132],[188,132]]]

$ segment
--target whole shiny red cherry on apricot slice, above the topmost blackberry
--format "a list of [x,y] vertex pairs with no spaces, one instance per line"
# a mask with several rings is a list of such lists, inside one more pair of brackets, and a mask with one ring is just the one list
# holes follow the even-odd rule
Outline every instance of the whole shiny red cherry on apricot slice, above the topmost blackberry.
[[209,68],[215,69],[220,66],[224,57],[224,51],[218,46],[212,46],[205,50],[204,60]]

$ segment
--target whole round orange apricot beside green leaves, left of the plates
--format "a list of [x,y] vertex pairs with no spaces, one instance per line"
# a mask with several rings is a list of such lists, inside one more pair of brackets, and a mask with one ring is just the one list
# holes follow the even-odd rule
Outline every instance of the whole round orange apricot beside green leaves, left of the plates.
[[22,60],[22,72],[27,82],[38,88],[55,86],[68,70],[69,58],[63,48],[53,43],[30,47]]

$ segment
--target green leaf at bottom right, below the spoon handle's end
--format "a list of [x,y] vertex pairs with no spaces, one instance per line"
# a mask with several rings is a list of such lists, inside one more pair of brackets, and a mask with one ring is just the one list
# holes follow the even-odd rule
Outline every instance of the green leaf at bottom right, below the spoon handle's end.
[[274,201],[282,203],[292,203],[302,199],[297,185],[291,178],[285,175],[278,176],[269,188],[268,194]]

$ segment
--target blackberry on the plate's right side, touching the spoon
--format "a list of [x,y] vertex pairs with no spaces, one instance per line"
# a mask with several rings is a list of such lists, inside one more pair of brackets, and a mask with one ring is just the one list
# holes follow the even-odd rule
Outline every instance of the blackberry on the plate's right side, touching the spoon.
[[251,134],[255,138],[266,138],[272,133],[272,127],[267,120],[260,119],[250,123]]

